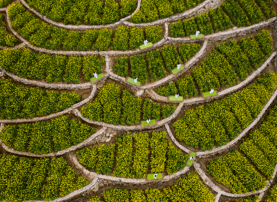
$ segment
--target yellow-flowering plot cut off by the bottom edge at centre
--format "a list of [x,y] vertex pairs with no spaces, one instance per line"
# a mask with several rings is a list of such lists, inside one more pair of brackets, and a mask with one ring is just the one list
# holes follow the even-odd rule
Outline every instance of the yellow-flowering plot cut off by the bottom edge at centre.
[[[193,190],[193,191],[192,191]],[[164,188],[162,191],[156,188],[147,188],[146,190],[127,190],[112,188],[104,191],[105,202],[138,202],[138,201],[191,201],[191,202],[212,202],[214,195],[199,180],[198,174],[189,172],[184,178],[172,186]],[[93,196],[88,202],[103,202],[99,196]]]

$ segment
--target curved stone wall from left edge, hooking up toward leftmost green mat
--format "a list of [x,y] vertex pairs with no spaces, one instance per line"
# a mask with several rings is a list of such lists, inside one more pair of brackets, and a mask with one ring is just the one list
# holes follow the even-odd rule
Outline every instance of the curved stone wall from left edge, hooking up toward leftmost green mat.
[[76,104],[72,105],[71,107],[69,107],[69,108],[67,108],[67,109],[65,109],[61,112],[50,114],[50,115],[47,115],[47,116],[41,116],[41,117],[37,117],[37,118],[22,118],[22,119],[17,118],[17,119],[14,119],[14,120],[9,120],[9,119],[0,120],[0,123],[28,123],[28,122],[44,121],[44,120],[52,119],[52,118],[55,118],[57,116],[60,116],[60,115],[66,114],[66,113],[70,113],[72,110],[74,110],[78,107],[81,107],[84,104],[88,103],[90,100],[93,99],[96,92],[97,92],[97,86],[96,86],[96,84],[93,84],[93,90],[91,91],[91,94],[89,95],[88,98],[86,98],[85,100],[83,100],[79,103],[76,103]]

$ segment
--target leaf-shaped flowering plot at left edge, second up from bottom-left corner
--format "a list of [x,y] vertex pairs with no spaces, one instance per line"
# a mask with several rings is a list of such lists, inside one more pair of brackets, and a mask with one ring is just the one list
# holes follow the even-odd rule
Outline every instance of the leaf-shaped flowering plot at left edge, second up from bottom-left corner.
[[13,146],[14,150],[45,154],[67,149],[95,132],[95,128],[62,115],[47,122],[7,125],[0,132],[0,139],[6,146]]

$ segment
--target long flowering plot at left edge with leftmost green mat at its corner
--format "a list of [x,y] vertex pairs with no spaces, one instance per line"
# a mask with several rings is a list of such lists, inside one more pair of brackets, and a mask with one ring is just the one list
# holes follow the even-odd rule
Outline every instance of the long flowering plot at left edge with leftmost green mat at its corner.
[[87,81],[94,77],[94,72],[102,73],[103,56],[63,56],[42,54],[27,48],[16,50],[2,50],[0,52],[0,66],[6,71],[12,71],[19,77],[31,79],[45,79],[47,82],[79,83],[80,72]]

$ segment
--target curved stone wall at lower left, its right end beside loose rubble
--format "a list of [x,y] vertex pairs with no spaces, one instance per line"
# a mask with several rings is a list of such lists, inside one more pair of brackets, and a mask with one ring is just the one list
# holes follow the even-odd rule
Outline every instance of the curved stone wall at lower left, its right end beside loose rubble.
[[[4,128],[2,128],[2,125],[4,125],[4,123],[1,123],[1,127],[0,127],[0,132],[1,130]],[[13,154],[17,154],[17,155],[24,155],[24,156],[30,156],[30,157],[53,157],[53,156],[60,156],[63,155],[65,153],[68,152],[72,152],[75,151],[76,149],[79,149],[83,146],[85,146],[86,144],[91,143],[96,137],[98,137],[99,135],[102,135],[105,131],[106,131],[107,127],[102,127],[99,131],[97,131],[96,133],[92,134],[89,138],[84,139],[83,142],[76,144],[74,146],[71,146],[67,149],[63,149],[57,152],[51,152],[48,154],[34,154],[34,153],[30,153],[30,152],[24,152],[24,151],[17,151],[12,149],[11,147],[7,147],[4,143],[1,142],[0,140],[0,145],[7,151]]]

